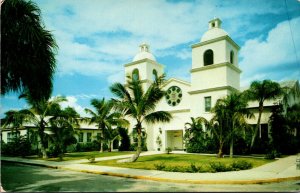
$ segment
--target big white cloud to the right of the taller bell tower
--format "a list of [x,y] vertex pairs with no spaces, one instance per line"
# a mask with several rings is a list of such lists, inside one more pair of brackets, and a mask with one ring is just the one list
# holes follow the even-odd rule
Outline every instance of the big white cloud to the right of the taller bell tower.
[[[297,55],[300,56],[300,17],[290,21]],[[243,83],[247,84],[255,79],[268,78],[266,72],[280,75],[280,69],[289,64],[299,65],[291,37],[288,21],[279,23],[269,31],[265,40],[261,37],[250,39],[240,50],[240,68],[243,70]],[[298,68],[299,74],[299,68]],[[284,75],[284,74],[283,74]],[[299,78],[297,76],[289,78]]]

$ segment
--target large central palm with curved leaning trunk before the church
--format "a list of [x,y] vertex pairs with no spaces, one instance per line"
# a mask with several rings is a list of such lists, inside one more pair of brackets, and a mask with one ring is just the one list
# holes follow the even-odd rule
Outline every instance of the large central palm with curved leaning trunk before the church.
[[155,111],[157,103],[164,97],[165,92],[161,89],[165,75],[155,79],[155,81],[144,91],[142,82],[138,79],[128,77],[127,85],[115,83],[110,87],[111,92],[118,98],[113,99],[116,106],[125,115],[135,119],[134,129],[137,132],[138,146],[136,154],[128,161],[135,162],[142,152],[142,124],[169,122],[171,114],[165,111]]

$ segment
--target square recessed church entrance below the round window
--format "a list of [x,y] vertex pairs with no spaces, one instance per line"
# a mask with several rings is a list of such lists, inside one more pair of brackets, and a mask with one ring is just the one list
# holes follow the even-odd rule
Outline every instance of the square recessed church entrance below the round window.
[[170,147],[172,150],[183,150],[182,130],[167,130],[166,138],[166,148]]

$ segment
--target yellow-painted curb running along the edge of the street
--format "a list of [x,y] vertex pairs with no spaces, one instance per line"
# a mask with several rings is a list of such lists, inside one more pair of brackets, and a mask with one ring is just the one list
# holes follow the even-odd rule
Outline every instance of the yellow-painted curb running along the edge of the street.
[[13,161],[13,160],[1,160],[1,161],[21,163],[21,164],[33,165],[33,166],[41,166],[41,167],[52,168],[52,169],[62,169],[62,170],[69,170],[69,171],[76,171],[76,172],[91,173],[91,174],[132,178],[132,179],[139,179],[139,180],[152,180],[152,181],[159,181],[159,182],[185,183],[185,184],[264,184],[264,183],[276,183],[276,182],[300,180],[300,176],[286,177],[286,178],[255,179],[255,180],[188,180],[188,179],[179,180],[179,179],[158,178],[158,177],[151,177],[151,176],[121,174],[115,172],[82,170],[82,169],[68,168],[66,166],[50,166],[50,165],[40,164],[40,163],[28,163],[28,162]]

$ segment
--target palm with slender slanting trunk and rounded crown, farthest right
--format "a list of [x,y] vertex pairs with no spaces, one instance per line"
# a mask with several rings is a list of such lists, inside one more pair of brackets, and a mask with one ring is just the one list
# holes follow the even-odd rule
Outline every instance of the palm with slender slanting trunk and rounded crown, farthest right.
[[253,81],[250,88],[245,91],[245,96],[250,101],[258,101],[258,119],[257,124],[252,134],[250,149],[252,149],[257,132],[260,128],[261,115],[264,110],[264,102],[266,100],[276,99],[282,95],[282,89],[277,82],[271,80]]

